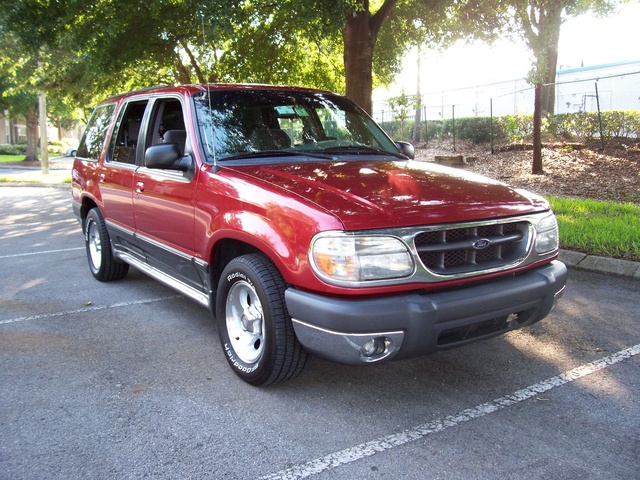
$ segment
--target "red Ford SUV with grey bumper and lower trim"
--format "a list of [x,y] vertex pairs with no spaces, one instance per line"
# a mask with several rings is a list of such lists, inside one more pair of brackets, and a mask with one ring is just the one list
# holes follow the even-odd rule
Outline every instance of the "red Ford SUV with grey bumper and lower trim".
[[253,385],[545,317],[567,275],[549,204],[412,158],[332,93],[152,88],[96,107],[73,209],[96,279],[132,265],[209,308]]

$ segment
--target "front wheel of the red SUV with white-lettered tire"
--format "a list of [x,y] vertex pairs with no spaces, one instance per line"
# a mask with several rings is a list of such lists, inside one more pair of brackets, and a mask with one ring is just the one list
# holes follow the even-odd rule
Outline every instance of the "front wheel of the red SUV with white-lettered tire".
[[237,257],[222,272],[216,298],[220,342],[234,373],[251,385],[295,378],[307,360],[284,291],[280,272],[260,254]]

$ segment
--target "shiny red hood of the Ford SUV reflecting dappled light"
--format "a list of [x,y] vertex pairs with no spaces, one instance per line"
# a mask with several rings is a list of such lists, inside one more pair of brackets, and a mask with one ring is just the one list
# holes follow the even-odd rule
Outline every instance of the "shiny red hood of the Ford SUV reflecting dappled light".
[[430,162],[351,160],[231,168],[331,212],[346,230],[464,222],[549,208],[537,195]]

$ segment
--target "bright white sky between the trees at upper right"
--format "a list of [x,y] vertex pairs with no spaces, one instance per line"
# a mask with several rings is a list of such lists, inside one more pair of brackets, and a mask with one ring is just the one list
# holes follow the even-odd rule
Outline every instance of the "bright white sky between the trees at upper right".
[[[558,69],[640,60],[640,2],[621,7],[618,14],[597,18],[585,14],[567,20],[560,30]],[[422,53],[422,93],[509,81],[526,77],[532,56],[521,42],[501,41],[493,46],[459,42],[443,51]],[[404,61],[404,70],[389,88],[375,98],[416,90],[416,52]]]

